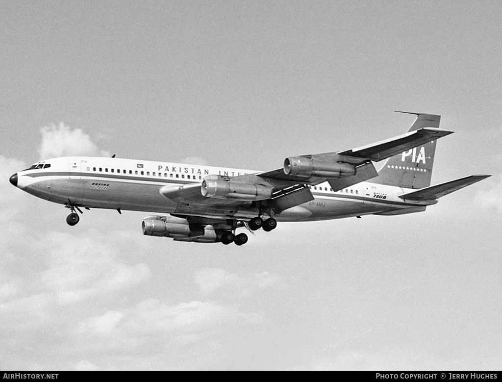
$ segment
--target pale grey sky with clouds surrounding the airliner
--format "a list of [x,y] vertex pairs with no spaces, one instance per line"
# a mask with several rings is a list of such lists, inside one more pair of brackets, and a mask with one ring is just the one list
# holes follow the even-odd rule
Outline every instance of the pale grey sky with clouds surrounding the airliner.
[[[502,6],[0,4],[0,369],[500,369]],[[236,246],[141,234],[9,184],[61,155],[269,170],[456,133],[426,212],[283,223]]]

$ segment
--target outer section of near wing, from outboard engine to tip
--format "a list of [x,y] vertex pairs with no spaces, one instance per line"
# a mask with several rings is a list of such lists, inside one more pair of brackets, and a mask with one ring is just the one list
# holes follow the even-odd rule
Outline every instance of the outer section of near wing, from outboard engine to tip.
[[446,137],[452,133],[452,131],[438,128],[422,128],[398,137],[376,142],[372,145],[361,146],[337,154],[370,159],[374,162],[378,162],[411,150],[417,146],[424,145],[430,141]]

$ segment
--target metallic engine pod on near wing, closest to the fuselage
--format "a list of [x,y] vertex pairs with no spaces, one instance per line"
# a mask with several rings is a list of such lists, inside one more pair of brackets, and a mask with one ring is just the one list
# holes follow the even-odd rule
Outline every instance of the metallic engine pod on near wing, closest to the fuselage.
[[266,200],[272,197],[272,186],[236,182],[219,175],[204,178],[200,191],[203,196],[216,199]]

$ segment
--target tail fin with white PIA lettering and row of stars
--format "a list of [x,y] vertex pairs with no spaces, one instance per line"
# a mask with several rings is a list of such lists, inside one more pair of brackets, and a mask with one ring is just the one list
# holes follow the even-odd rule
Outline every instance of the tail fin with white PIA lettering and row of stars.
[[[439,128],[441,115],[410,113],[417,115],[408,132],[422,128]],[[432,166],[437,140],[405,151],[389,158],[378,171],[378,177],[368,180],[370,183],[420,189],[431,185]]]

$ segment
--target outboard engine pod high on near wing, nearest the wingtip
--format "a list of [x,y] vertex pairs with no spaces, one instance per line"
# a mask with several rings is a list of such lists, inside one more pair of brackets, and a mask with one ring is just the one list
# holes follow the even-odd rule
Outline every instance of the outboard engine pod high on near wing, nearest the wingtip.
[[304,177],[342,178],[355,175],[355,166],[345,162],[326,162],[306,157],[290,157],[284,160],[284,173]]

